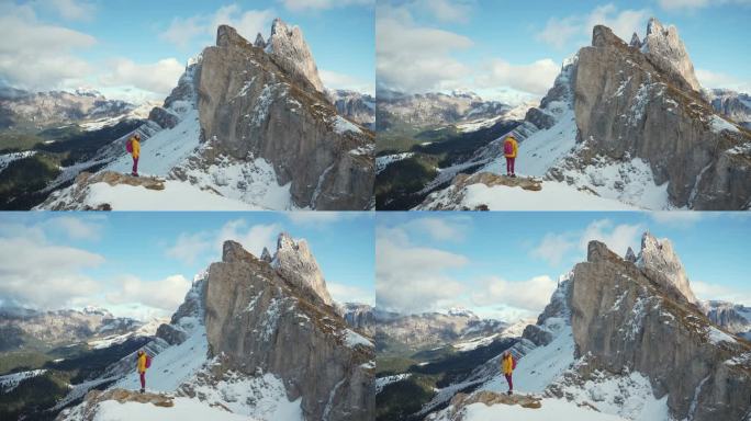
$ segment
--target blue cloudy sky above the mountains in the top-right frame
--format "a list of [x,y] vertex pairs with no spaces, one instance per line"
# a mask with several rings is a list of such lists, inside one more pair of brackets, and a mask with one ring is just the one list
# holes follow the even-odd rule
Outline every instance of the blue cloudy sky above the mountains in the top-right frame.
[[677,27],[703,86],[749,92],[750,13],[749,0],[379,0],[378,84],[539,99],[595,24],[629,41],[655,16]]

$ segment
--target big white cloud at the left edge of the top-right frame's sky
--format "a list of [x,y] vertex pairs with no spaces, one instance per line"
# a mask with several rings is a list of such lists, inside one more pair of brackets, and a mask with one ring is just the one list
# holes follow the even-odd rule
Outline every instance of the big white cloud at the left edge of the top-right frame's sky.
[[473,45],[469,37],[418,26],[406,8],[379,5],[375,38],[380,87],[406,92],[455,89],[472,72],[451,56]]

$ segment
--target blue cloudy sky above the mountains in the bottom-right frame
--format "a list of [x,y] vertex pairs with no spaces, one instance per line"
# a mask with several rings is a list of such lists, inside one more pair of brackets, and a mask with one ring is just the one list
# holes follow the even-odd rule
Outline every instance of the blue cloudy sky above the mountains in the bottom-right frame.
[[646,230],[673,242],[699,298],[751,305],[751,217],[627,212],[380,213],[377,305],[537,317],[559,275],[586,259],[590,240],[638,253]]

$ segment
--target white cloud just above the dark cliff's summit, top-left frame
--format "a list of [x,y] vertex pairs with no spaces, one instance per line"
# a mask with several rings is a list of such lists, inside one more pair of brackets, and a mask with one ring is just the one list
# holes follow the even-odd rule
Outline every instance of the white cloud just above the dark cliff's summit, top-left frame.
[[175,18],[169,27],[159,34],[164,41],[187,48],[194,39],[213,39],[218,25],[227,24],[251,42],[258,33],[268,36],[268,29],[276,12],[271,9],[243,10],[237,3],[224,5],[211,14]]

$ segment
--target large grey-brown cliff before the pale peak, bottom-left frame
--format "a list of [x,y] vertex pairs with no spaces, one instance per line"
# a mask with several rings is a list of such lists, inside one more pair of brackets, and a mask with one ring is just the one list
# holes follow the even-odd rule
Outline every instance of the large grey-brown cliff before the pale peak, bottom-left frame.
[[226,369],[279,376],[306,419],[371,419],[372,344],[238,243],[225,242],[223,254],[206,277],[210,353]]

